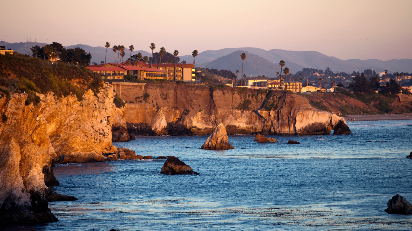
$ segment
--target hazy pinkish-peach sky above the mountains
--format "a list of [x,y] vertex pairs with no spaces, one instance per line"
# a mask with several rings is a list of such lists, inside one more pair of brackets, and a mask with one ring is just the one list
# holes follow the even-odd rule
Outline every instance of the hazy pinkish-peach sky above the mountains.
[[[5,0],[0,39],[64,46],[133,44],[180,55],[222,48],[412,58],[412,0]],[[6,9],[6,10],[5,10]]]

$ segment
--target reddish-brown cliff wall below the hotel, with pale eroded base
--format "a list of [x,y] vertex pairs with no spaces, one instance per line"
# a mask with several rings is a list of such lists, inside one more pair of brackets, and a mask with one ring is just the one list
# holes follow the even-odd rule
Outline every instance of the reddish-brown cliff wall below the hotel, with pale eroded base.
[[146,102],[127,105],[127,122],[156,123],[160,109],[166,122],[182,123],[195,135],[211,134],[220,123],[227,134],[350,132],[343,117],[315,109],[307,98],[291,92],[174,83],[146,84],[144,92]]

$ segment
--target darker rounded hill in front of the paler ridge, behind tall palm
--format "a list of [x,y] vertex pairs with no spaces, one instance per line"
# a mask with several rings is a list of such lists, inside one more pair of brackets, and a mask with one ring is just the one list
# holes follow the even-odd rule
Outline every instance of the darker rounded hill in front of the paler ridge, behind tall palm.
[[[246,74],[247,77],[252,75],[256,77],[258,75],[265,75],[269,78],[276,77],[276,72],[280,72],[281,68],[279,65],[276,65],[268,60],[258,56],[251,54],[247,51],[234,51],[229,55],[222,56],[216,60],[208,62],[203,65],[204,68],[216,68],[216,69],[226,69],[231,70],[232,72],[236,72],[236,70],[242,71],[242,60],[240,58],[241,53],[246,53],[247,58],[243,63],[243,74]],[[303,67],[297,64],[289,63],[286,65],[289,69],[302,69]],[[239,74],[240,77],[240,74]]]

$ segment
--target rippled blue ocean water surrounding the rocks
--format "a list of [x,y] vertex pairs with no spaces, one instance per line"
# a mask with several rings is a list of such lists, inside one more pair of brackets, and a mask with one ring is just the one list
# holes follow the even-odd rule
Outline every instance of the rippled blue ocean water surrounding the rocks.
[[348,125],[353,134],[270,136],[280,143],[233,135],[224,151],[201,150],[207,136],[114,143],[201,175],[159,174],[164,160],[56,165],[56,192],[79,201],[49,203],[59,222],[14,229],[412,230],[411,215],[384,212],[398,192],[412,202],[412,120]]

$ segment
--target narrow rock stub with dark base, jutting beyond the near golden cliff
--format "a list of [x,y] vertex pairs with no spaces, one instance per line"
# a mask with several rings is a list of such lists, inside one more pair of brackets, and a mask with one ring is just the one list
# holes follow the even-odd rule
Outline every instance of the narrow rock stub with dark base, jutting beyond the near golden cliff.
[[130,141],[131,137],[129,133],[127,132],[126,120],[124,120],[125,111],[126,111],[126,105],[122,106],[122,108],[116,108],[116,112],[113,117],[113,124],[112,124],[112,141],[113,142]]

